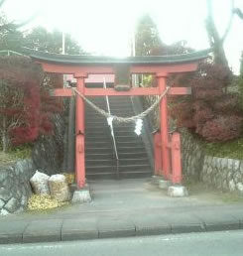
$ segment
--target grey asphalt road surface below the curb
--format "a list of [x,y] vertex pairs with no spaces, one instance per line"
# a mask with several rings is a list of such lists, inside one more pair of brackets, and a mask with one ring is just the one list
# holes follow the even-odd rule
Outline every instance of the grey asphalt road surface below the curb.
[[1,256],[237,256],[243,255],[243,231],[98,239],[0,246]]

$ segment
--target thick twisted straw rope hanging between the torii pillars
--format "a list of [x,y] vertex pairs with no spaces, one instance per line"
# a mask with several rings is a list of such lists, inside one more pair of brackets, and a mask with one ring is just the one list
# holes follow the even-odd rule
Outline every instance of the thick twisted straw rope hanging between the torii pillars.
[[[110,115],[108,112],[106,112],[105,110],[103,110],[102,108],[98,107],[97,105],[95,105],[91,100],[89,100],[88,98],[86,98],[82,93],[80,93],[76,88],[74,87],[70,87],[72,89],[73,95],[76,94],[79,97],[81,97],[89,106],[91,106],[95,111],[97,111],[100,115],[104,116],[107,118],[107,122],[109,124],[109,122],[112,124],[112,122],[115,123],[130,123],[130,122],[137,122],[138,120],[142,120],[144,119],[150,112],[152,112],[157,105],[161,102],[161,100],[163,99],[163,97],[165,97],[169,91],[169,89],[171,88],[170,86],[168,86],[163,93],[160,95],[160,97],[149,107],[147,108],[145,111],[143,111],[140,114],[134,115],[134,116],[130,116],[130,117],[121,117],[121,116],[116,116],[116,115]],[[109,121],[108,121],[109,120]],[[143,122],[143,121],[142,121]]]

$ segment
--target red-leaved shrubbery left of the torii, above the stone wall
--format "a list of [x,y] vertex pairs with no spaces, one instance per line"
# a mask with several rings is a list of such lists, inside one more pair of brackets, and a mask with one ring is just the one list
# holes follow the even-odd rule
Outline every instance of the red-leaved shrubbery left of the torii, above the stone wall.
[[[0,87],[0,97],[8,98],[6,104],[0,104],[4,117],[0,116],[0,133],[5,129],[12,145],[30,143],[39,135],[53,132],[52,116],[61,111],[62,105],[59,99],[48,94],[48,90],[61,86],[62,80],[60,75],[44,76],[40,66],[30,59],[1,57],[0,79],[8,85],[8,91]],[[17,101],[22,104],[16,105]]]

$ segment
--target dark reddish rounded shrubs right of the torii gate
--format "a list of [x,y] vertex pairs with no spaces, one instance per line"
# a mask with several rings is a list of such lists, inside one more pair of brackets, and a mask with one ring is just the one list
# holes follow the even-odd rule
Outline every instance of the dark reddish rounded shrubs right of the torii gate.
[[230,71],[205,63],[198,71],[172,76],[173,86],[191,86],[192,95],[173,99],[171,115],[179,127],[189,128],[208,142],[224,142],[240,136],[242,114],[238,96],[228,93]]

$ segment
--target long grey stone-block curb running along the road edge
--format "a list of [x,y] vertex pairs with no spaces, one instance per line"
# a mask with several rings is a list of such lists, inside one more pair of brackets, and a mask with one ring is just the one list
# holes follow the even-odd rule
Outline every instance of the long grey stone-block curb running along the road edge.
[[[75,219],[48,219],[35,221],[11,221],[0,225],[0,244],[39,243],[53,241],[91,240],[132,236],[168,235],[190,232],[211,232],[243,229],[241,219],[225,221],[200,220],[197,223],[131,223],[128,221],[102,221],[94,225]],[[72,223],[68,225],[68,223]]]

